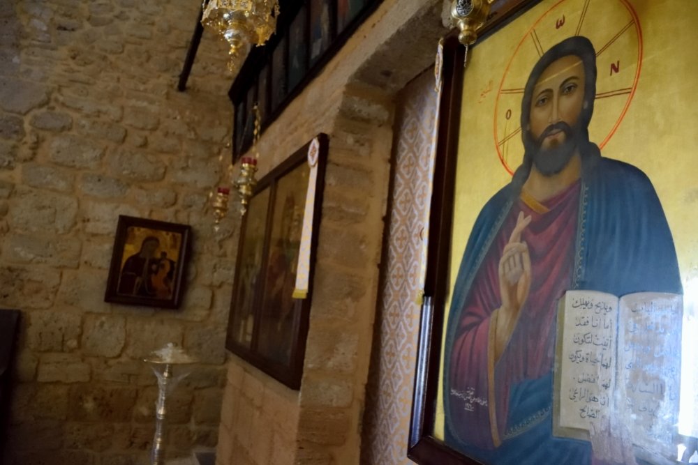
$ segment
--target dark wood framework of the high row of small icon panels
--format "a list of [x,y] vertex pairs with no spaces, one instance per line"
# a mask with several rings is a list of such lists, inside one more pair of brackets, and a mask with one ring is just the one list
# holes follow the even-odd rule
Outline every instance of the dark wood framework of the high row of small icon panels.
[[[362,10],[359,14],[354,17],[346,28],[341,32],[337,32],[337,1],[329,0],[329,47],[320,54],[315,63],[311,63],[311,11],[310,2],[308,0],[298,1],[298,0],[280,0],[281,5],[281,15],[279,15],[279,20],[276,23],[276,33],[267,41],[264,47],[254,47],[247,59],[242,65],[240,72],[237,74],[235,81],[230,86],[230,91],[228,91],[228,97],[235,108],[235,114],[238,112],[244,112],[245,117],[242,118],[243,124],[242,128],[237,125],[239,119],[237,116],[233,117],[233,139],[232,139],[232,160],[235,162],[243,153],[245,153],[251,146],[251,140],[247,140],[247,137],[243,139],[246,141],[241,143],[236,143],[240,139],[237,134],[238,131],[244,131],[244,121],[246,119],[252,119],[254,121],[254,115],[252,109],[246,107],[245,100],[247,96],[247,91],[251,87],[258,86],[259,74],[262,68],[266,65],[272,63],[272,56],[274,54],[274,49],[277,45],[281,43],[284,47],[284,63],[285,66],[285,82],[288,84],[288,73],[290,66],[288,66],[288,44],[290,42],[290,25],[292,24],[295,17],[300,13],[304,12],[306,15],[305,21],[305,47],[306,47],[306,70],[305,75],[299,82],[293,87],[293,89],[286,89],[285,96],[280,102],[276,102],[276,105],[272,105],[272,76],[274,75],[274,70],[269,67],[269,76],[267,77],[268,88],[265,89],[267,92],[267,105],[265,109],[260,109],[262,114],[261,127],[262,132],[271,124],[283,109],[288,106],[288,104],[303,91],[303,89],[317,76],[322,68],[329,62],[332,57],[339,52],[339,49],[346,43],[350,38],[352,33],[368,18],[371,13],[373,13],[376,8],[382,3],[383,0],[366,0]],[[303,8],[305,7],[305,8]],[[283,41],[283,42],[282,42]],[[259,95],[260,90],[258,89],[255,95]]]

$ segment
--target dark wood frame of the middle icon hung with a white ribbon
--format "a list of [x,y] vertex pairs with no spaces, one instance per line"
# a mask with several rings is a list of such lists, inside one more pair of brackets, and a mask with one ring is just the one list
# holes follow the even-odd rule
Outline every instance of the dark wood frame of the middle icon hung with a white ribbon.
[[[318,230],[320,227],[320,208],[322,207],[322,191],[325,185],[325,167],[327,165],[327,146],[328,139],[327,135],[318,135],[318,142],[320,142],[320,150],[318,153],[318,175],[316,179],[315,188],[315,214],[313,216],[313,238],[311,241],[311,268],[309,276],[309,289],[308,294],[303,300],[295,300],[294,308],[294,321],[293,321],[293,335],[292,335],[292,349],[290,362],[288,365],[278,363],[265,357],[260,351],[258,351],[258,341],[260,339],[260,321],[262,317],[262,312],[264,308],[262,307],[262,298],[264,296],[264,279],[267,265],[268,265],[268,255],[269,255],[269,243],[272,236],[272,222],[274,219],[274,205],[276,201],[276,185],[279,183],[281,178],[288,174],[293,169],[296,169],[303,163],[307,162],[308,149],[311,142],[308,142],[301,148],[299,148],[295,153],[293,153],[288,159],[286,159],[281,165],[274,168],[267,174],[264,178],[260,179],[256,188],[255,194],[262,192],[266,188],[270,189],[269,192],[269,204],[267,206],[267,218],[265,220],[265,232],[264,232],[264,245],[262,246],[262,258],[261,258],[261,270],[260,270],[260,284],[257,289],[255,289],[255,295],[253,297],[253,319],[255,321],[252,330],[252,341],[249,347],[237,343],[231,336],[232,331],[232,321],[233,315],[235,314],[235,296],[238,295],[237,288],[239,284],[240,269],[242,266],[242,253],[237,254],[237,263],[235,265],[235,282],[232,287],[232,301],[230,303],[230,319],[228,320],[228,337],[225,342],[225,346],[235,353],[237,356],[247,360],[255,367],[258,367],[263,372],[273,376],[275,379],[281,381],[286,386],[292,389],[299,389],[301,384],[301,377],[303,375],[303,360],[305,357],[306,348],[306,337],[308,335],[308,323],[310,316],[311,307],[311,296],[312,296],[312,285],[313,285],[313,274],[315,263],[315,255],[318,245]],[[246,231],[246,219],[242,220],[242,225],[240,228],[240,238],[238,250],[244,250],[244,239]]]

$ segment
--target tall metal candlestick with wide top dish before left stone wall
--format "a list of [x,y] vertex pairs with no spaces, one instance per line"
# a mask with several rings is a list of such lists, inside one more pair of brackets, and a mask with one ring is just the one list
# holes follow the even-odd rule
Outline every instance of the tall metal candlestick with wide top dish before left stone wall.
[[[180,374],[177,377],[172,376],[172,365],[188,365],[197,363],[198,360],[189,356],[181,347],[170,342],[162,349],[158,349],[150,354],[145,362],[151,363],[151,367],[155,376],[158,378],[158,402],[156,402],[155,410],[155,437],[153,439],[153,449],[150,455],[150,463],[152,465],[165,464],[165,417],[167,409],[165,402],[168,393],[174,390],[177,383],[188,376],[188,372]],[[162,372],[160,367],[163,367]]]

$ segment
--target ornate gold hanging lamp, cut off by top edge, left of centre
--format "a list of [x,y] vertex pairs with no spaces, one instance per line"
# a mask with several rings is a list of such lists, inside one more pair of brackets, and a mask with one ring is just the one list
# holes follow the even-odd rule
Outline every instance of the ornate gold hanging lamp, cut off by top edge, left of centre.
[[237,73],[252,45],[264,45],[276,30],[279,0],[209,0],[201,24],[228,42],[228,70]]

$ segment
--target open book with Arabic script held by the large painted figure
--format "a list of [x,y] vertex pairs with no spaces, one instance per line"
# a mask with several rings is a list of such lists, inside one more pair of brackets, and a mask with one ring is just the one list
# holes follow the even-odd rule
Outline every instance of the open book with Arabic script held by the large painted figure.
[[589,439],[619,418],[634,445],[676,454],[683,297],[567,291],[558,311],[553,432]]

